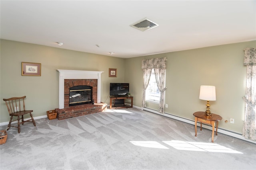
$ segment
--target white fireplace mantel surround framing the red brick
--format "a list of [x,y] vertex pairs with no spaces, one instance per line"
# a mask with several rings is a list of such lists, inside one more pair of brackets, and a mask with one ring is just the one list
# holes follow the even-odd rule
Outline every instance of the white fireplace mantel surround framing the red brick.
[[59,72],[59,109],[64,109],[65,79],[97,79],[97,103],[100,103],[101,73],[104,71],[57,70]]

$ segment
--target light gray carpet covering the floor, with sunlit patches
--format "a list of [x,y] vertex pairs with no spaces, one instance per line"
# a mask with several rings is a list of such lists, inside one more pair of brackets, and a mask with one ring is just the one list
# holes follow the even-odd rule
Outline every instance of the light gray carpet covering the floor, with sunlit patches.
[[[2,126],[1,129],[5,129]],[[14,127],[1,170],[256,169],[256,145],[136,108]]]

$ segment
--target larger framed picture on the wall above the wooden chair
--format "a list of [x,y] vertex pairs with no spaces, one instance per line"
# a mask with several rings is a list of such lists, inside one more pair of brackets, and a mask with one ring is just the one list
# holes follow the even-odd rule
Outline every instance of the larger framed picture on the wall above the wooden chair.
[[41,76],[41,63],[21,63],[22,76]]

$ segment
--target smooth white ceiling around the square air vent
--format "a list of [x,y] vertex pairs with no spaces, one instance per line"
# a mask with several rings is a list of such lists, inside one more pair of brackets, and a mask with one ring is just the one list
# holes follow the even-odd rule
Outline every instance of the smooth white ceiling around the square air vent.
[[[1,39],[121,58],[256,39],[255,0],[1,0],[0,15]],[[159,26],[130,26],[144,18]]]

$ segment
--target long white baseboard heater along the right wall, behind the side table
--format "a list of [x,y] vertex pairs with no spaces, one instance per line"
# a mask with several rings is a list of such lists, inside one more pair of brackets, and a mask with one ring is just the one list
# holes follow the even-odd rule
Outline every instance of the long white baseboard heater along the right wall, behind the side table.
[[[189,124],[192,124],[192,125],[195,125],[195,121],[194,120],[191,120],[191,119],[186,119],[184,117],[178,117],[176,115],[173,115],[173,114],[170,114],[170,113],[159,113],[158,111],[154,110],[154,109],[149,109],[149,108],[146,108],[146,107],[138,107],[138,106],[134,106],[138,109],[142,109],[142,110],[146,110],[146,111],[150,111],[152,113],[156,113],[156,114],[159,114],[159,115],[162,115],[162,116],[166,116],[166,117],[170,117],[172,119],[176,119],[176,120],[179,120],[179,121],[183,121],[185,123],[189,123]],[[200,127],[200,123],[197,123],[197,126]],[[210,125],[204,125],[202,124],[202,127],[205,128],[205,129],[209,129],[209,130],[212,130],[212,126]],[[215,128],[216,130],[216,128]],[[225,134],[225,135],[228,135],[228,136],[232,136],[232,137],[235,137],[235,138],[238,138],[238,139],[242,139],[244,141],[248,141],[248,142],[251,142],[251,143],[255,143],[256,144],[256,141],[252,141],[250,139],[245,139],[241,133],[238,133],[238,132],[234,132],[234,131],[230,131],[228,129],[223,129],[223,128],[220,128],[218,127],[218,133],[222,133],[222,134]]]

